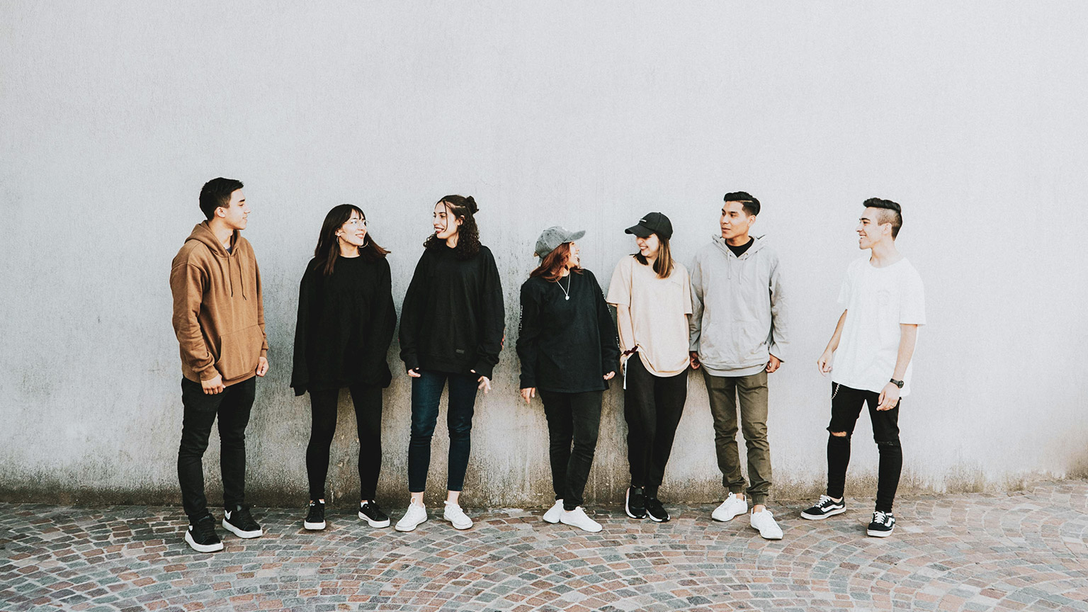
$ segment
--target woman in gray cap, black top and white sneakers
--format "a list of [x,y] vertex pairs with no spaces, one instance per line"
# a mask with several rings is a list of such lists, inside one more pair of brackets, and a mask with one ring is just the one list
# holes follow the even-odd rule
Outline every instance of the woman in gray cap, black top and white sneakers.
[[556,501],[544,521],[595,533],[601,525],[585,515],[582,492],[619,346],[601,285],[580,265],[574,241],[583,235],[556,225],[536,240],[541,264],[521,285],[517,348],[521,396],[528,404],[540,391],[547,418]]

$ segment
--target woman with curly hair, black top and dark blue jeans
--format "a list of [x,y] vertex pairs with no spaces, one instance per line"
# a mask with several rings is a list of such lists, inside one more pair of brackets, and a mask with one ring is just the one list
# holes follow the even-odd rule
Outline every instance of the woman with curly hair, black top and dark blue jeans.
[[472,526],[459,502],[472,413],[477,391],[491,391],[506,319],[495,257],[480,244],[478,211],[472,196],[449,195],[435,204],[434,233],[423,243],[400,309],[400,359],[411,377],[411,502],[396,524],[398,531],[411,531],[426,521],[423,491],[431,465],[431,436],[447,382],[449,468],[443,518],[457,529]]

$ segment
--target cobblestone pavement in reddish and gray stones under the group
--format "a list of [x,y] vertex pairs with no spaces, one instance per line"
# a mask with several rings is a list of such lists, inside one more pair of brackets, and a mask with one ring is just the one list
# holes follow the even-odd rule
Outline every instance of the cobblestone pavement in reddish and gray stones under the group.
[[599,534],[522,510],[410,534],[331,514],[313,534],[301,510],[255,509],[264,537],[197,554],[176,507],[0,504],[0,610],[1088,611],[1088,481],[905,498],[887,539],[865,536],[870,500],[821,522],[803,505],[772,506],[780,541],[709,505],[598,511]]

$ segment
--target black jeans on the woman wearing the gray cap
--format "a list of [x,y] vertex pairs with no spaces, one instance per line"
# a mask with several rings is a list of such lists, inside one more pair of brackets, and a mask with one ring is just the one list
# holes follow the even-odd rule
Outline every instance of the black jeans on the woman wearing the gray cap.
[[593,453],[597,449],[603,396],[604,391],[541,391],[544,416],[547,417],[552,488],[555,489],[555,499],[562,500],[562,509],[567,511],[583,503],[585,480],[590,477]]

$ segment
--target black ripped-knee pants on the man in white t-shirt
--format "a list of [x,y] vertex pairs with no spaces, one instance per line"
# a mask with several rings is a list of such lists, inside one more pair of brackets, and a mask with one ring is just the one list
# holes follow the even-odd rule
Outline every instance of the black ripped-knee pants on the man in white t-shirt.
[[841,498],[846,481],[846,465],[850,464],[850,438],[854,433],[862,405],[869,406],[873,421],[873,439],[880,452],[880,467],[877,478],[877,505],[881,512],[891,512],[899,488],[899,476],[903,469],[903,448],[899,443],[899,406],[890,411],[878,411],[880,394],[873,391],[851,389],[837,382],[831,383],[831,423],[829,432],[845,432],[845,436],[829,436],[827,440],[827,494]]

